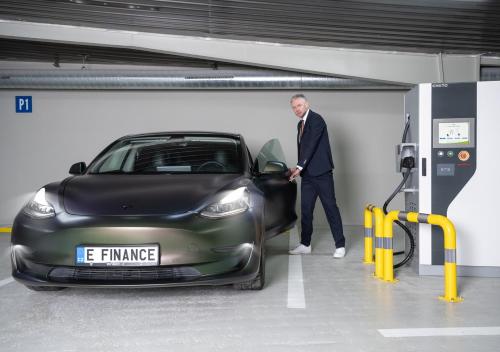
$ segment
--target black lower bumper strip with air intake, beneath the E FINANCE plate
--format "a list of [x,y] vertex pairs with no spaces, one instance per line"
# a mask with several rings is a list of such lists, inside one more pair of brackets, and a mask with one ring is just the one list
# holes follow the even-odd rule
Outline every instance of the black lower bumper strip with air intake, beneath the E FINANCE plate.
[[31,286],[62,287],[163,287],[225,285],[251,280],[259,270],[260,253],[249,253],[193,266],[79,267],[51,266],[29,261],[13,264],[12,276]]

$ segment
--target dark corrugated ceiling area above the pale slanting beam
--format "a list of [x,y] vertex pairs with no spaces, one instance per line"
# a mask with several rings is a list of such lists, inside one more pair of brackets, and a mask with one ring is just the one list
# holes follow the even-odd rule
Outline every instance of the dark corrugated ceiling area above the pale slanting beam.
[[480,0],[2,0],[0,19],[298,45],[500,53]]

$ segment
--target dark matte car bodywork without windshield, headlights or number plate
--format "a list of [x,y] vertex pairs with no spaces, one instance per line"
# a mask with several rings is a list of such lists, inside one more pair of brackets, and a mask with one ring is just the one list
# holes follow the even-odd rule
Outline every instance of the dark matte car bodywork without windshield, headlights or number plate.
[[[89,172],[116,143],[165,136],[233,138],[239,143],[241,168],[232,173]],[[270,165],[276,161],[280,160]],[[36,290],[229,283],[260,289],[265,239],[290,229],[297,219],[296,183],[288,182],[285,165],[277,164],[271,172],[259,172],[244,139],[234,134],[175,132],[120,138],[89,167],[73,165],[71,172],[81,174],[44,187],[53,216],[40,219],[24,209],[19,212],[12,228],[12,275]],[[224,192],[243,188],[248,193],[246,211],[222,218],[201,215]],[[144,245],[159,246],[157,265],[76,263],[77,247]],[[262,280],[260,287],[255,286],[256,278]]]

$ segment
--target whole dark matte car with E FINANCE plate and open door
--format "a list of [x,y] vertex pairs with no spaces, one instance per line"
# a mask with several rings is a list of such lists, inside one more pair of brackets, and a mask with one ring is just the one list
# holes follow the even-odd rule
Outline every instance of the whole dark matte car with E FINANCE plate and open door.
[[12,275],[34,290],[234,284],[262,289],[264,241],[292,228],[296,183],[277,140],[122,137],[45,185],[12,228]]

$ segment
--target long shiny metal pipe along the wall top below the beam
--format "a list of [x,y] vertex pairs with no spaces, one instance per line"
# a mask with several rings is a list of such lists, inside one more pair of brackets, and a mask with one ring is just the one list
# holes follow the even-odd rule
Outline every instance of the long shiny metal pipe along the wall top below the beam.
[[0,89],[407,90],[408,85],[270,70],[0,70]]

